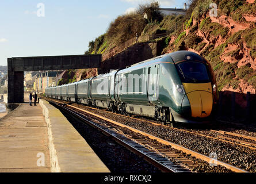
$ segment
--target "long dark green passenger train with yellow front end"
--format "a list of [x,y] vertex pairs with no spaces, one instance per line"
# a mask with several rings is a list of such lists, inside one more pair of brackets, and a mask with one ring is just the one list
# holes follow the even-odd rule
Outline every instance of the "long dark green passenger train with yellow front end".
[[219,98],[211,64],[190,51],[168,53],[90,79],[48,87],[45,96],[171,125],[209,122]]

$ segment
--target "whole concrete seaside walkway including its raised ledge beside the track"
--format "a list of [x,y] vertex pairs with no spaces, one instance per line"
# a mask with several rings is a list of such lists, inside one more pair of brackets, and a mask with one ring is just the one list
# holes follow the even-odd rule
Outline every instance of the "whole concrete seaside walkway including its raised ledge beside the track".
[[0,118],[1,172],[108,173],[109,169],[66,117],[40,99]]

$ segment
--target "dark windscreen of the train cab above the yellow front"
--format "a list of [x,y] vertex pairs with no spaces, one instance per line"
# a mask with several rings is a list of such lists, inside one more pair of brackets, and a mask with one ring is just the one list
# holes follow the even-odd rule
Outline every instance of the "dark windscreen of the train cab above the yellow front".
[[183,62],[177,65],[182,82],[204,83],[209,82],[207,67],[199,62]]

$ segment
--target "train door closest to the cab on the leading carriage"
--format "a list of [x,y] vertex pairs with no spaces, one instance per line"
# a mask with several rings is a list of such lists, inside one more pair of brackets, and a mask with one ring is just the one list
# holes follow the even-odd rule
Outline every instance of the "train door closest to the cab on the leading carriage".
[[156,105],[155,102],[159,99],[159,68],[159,64],[148,67],[147,94],[152,105]]

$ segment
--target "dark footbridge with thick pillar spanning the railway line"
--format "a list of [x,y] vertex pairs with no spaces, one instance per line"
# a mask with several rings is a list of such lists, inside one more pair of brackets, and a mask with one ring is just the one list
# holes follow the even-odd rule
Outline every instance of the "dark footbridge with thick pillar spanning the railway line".
[[7,59],[8,104],[24,102],[24,71],[100,68],[100,55],[12,57]]

